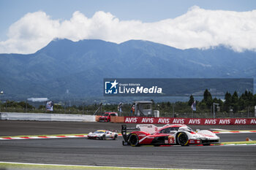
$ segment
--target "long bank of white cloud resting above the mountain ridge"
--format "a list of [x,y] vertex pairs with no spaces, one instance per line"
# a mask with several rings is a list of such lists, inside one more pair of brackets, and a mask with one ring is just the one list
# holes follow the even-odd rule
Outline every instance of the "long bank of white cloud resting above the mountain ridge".
[[45,12],[28,13],[9,28],[0,53],[34,53],[53,40],[102,39],[121,43],[143,39],[187,49],[225,45],[236,51],[256,50],[256,10],[233,12],[192,7],[174,19],[143,23],[119,20],[109,12],[86,18],[74,12],[70,20],[52,20]]

